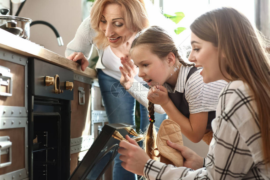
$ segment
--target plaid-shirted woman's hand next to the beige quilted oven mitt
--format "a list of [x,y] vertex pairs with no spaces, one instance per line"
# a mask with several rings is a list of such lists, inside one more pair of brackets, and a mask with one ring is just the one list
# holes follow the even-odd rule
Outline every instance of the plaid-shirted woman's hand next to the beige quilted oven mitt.
[[203,158],[197,155],[193,150],[189,149],[186,146],[178,145],[176,143],[172,143],[171,141],[167,141],[167,144],[179,150],[184,158],[183,166],[191,168],[193,170],[199,169],[203,167]]

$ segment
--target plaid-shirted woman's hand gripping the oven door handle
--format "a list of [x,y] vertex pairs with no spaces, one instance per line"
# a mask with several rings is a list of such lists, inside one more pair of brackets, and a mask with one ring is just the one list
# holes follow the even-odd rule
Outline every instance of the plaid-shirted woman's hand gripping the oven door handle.
[[121,165],[127,171],[143,175],[144,166],[150,157],[135,140],[131,139],[128,135],[126,135],[126,139],[129,142],[122,140],[119,143],[120,148],[118,149],[118,153],[121,154],[119,159],[123,161]]

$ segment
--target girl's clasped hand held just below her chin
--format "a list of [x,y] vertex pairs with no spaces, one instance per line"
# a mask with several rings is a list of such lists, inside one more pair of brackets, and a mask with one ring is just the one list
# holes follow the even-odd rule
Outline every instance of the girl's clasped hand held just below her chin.
[[147,99],[160,106],[166,105],[170,101],[168,90],[162,85],[154,85],[148,92]]

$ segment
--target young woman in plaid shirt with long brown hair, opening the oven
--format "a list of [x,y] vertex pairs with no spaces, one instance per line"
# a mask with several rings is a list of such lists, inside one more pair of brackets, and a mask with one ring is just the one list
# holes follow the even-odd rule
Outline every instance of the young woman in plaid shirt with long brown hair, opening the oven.
[[207,12],[190,28],[189,60],[203,66],[203,81],[229,82],[219,95],[206,167],[200,168],[203,158],[171,142],[167,143],[181,151],[186,167],[151,160],[130,138],[131,143],[120,142],[125,148],[118,151],[122,166],[149,180],[270,179],[270,62],[256,31],[233,8]]

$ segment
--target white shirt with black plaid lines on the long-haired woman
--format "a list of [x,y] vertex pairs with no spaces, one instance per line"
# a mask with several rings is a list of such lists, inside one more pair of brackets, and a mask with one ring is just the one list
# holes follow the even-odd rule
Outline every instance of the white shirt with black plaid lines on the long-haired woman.
[[219,95],[206,167],[192,170],[149,160],[144,176],[149,180],[270,179],[256,111],[247,85],[240,80],[230,82]]

